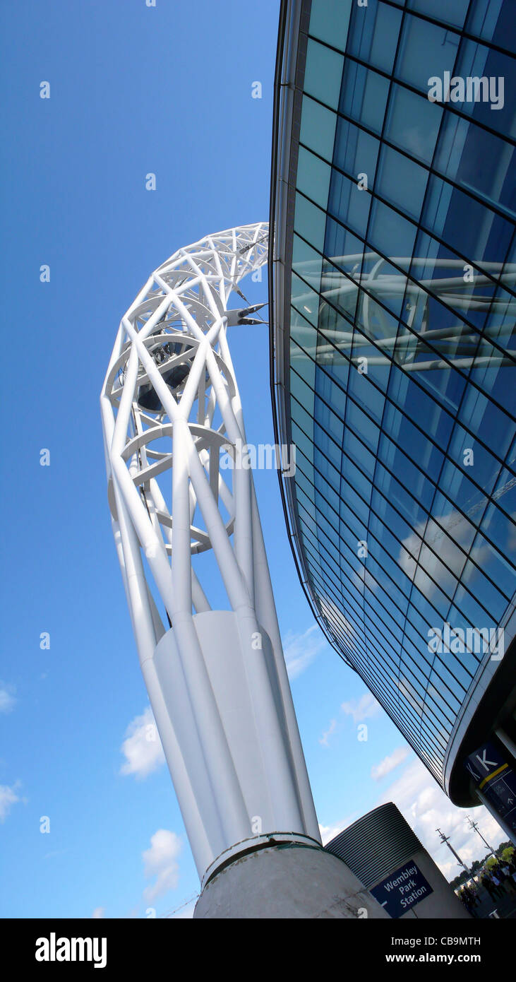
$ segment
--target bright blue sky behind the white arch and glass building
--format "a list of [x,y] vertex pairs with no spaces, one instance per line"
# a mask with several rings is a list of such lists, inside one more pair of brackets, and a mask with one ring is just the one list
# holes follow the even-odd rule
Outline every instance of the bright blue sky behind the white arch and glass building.
[[[148,700],[111,536],[98,397],[120,318],[149,273],[179,246],[268,217],[278,13],[277,0],[2,7],[4,917],[187,916],[198,890],[159,747],[149,756],[140,739]],[[145,190],[149,172],[156,191]],[[242,286],[266,299],[265,278]],[[273,442],[267,329],[230,343],[248,440]],[[436,825],[466,859],[482,843],[315,626],[276,473],[258,472],[256,486],[325,835],[395,800],[451,878]],[[501,841],[484,809],[476,817]]]

